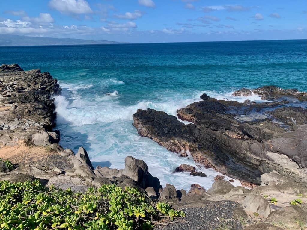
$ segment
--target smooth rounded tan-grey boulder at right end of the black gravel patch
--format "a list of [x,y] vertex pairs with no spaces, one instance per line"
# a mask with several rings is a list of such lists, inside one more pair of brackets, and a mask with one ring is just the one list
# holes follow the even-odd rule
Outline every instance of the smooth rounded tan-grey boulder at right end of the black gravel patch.
[[268,217],[271,212],[270,205],[266,199],[255,194],[247,195],[242,205],[251,210],[251,212],[258,213],[262,217]]

